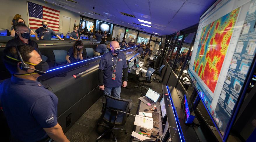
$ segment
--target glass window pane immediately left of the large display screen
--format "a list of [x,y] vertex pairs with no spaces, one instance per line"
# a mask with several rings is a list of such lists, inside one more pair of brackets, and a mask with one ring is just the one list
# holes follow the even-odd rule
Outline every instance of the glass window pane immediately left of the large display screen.
[[[186,34],[184,37],[185,38],[184,42],[180,49],[180,53],[179,53],[180,58],[178,59],[178,61],[180,63],[180,66],[184,66],[184,69],[181,70],[181,67],[180,67],[180,69],[174,70],[177,77],[179,74],[181,74],[180,82],[183,85],[183,87],[187,90],[187,92],[192,92],[194,90],[194,87],[192,87],[192,84],[191,84],[191,79],[187,74],[191,54],[193,51],[193,46],[192,46],[191,52],[189,54],[188,54],[188,51],[189,51],[190,45],[194,44],[194,43],[192,43],[194,35],[195,35],[195,33]],[[187,61],[185,61],[186,58],[187,58]]]

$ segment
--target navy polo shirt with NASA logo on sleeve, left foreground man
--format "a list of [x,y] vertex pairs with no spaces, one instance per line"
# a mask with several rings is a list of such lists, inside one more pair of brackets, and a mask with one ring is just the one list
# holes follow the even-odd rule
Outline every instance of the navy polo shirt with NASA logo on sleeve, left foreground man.
[[1,83],[0,100],[11,134],[19,141],[45,139],[43,128],[57,125],[58,98],[38,81],[12,76]]

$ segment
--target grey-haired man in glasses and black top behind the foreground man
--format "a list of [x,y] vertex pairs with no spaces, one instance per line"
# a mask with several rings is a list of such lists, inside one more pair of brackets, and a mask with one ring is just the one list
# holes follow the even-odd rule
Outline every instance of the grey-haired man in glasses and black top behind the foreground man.
[[14,30],[18,37],[11,39],[7,42],[8,46],[18,46],[18,45],[30,45],[35,48],[35,50],[42,56],[39,51],[38,45],[35,41],[30,39],[29,28],[25,24],[17,23],[14,25]]

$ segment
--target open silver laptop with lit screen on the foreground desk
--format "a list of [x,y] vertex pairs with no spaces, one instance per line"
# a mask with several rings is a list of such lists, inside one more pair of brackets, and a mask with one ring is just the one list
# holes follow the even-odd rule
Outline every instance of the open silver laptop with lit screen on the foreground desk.
[[140,99],[146,105],[151,106],[151,105],[154,105],[157,102],[159,97],[160,97],[159,93],[157,93],[156,91],[149,88],[147,94],[143,97],[138,98],[138,99]]

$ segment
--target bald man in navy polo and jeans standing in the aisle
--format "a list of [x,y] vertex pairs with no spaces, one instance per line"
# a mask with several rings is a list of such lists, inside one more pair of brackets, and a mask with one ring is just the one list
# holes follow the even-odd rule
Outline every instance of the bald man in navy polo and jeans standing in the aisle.
[[120,98],[121,86],[127,86],[128,66],[125,55],[120,53],[120,45],[117,41],[111,42],[110,49],[111,51],[104,54],[99,63],[99,89],[110,96],[113,91],[113,96]]

